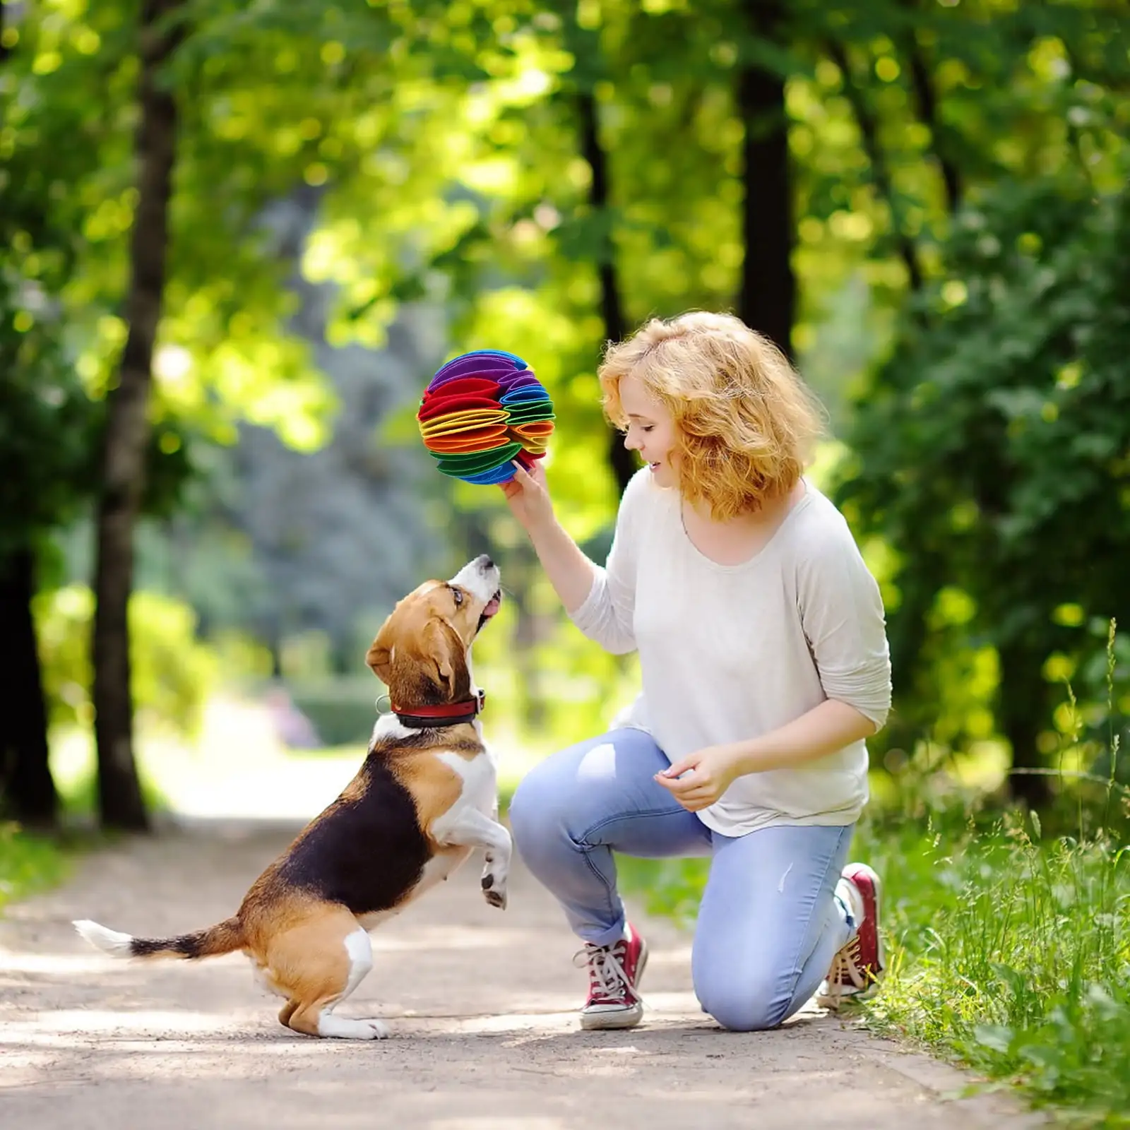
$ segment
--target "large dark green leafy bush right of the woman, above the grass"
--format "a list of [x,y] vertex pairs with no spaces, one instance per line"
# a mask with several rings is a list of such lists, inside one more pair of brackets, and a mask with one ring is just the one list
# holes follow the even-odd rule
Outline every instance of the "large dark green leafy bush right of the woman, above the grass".
[[897,547],[890,638],[911,714],[931,713],[962,650],[1062,657],[1062,679],[1104,650],[1087,625],[1130,612],[1127,240],[1125,191],[985,193],[857,406],[837,497]]

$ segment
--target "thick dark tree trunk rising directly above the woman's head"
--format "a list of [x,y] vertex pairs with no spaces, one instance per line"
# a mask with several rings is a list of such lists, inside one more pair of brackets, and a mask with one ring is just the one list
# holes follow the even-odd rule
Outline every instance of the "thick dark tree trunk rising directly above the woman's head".
[[[780,0],[746,0],[748,31],[779,41]],[[792,273],[792,186],[784,78],[756,63],[738,71],[738,113],[745,125],[742,207],[745,260],[738,316],[792,355],[797,280]]]

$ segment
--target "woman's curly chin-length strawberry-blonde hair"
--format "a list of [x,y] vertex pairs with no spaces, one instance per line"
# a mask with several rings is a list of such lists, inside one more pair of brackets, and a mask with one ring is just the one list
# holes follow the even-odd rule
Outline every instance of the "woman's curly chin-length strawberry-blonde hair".
[[629,374],[675,420],[680,493],[719,521],[785,497],[824,431],[819,402],[784,354],[730,314],[652,319],[609,346],[598,376],[618,428]]

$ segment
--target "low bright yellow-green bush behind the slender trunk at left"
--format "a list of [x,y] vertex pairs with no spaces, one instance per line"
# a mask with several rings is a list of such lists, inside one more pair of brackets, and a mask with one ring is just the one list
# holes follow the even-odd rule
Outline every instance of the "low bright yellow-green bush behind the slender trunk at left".
[[[93,721],[89,633],[93,593],[70,585],[41,593],[34,612],[44,693],[55,725]],[[172,597],[137,592],[130,600],[132,692],[142,722],[191,736],[211,693],[216,660],[195,637],[195,616]]]

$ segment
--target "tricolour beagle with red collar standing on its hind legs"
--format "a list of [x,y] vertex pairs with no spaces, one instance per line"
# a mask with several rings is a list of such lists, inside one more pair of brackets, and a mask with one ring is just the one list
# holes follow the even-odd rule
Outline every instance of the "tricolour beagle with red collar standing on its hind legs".
[[116,957],[200,958],[242,949],[285,998],[295,1032],[380,1040],[382,1020],[336,1016],[373,965],[368,932],[398,914],[471,851],[486,851],[483,894],[505,909],[510,833],[498,823],[496,763],[483,741],[483,692],[471,644],[498,611],[498,568],[486,555],[450,581],[399,601],[366,660],[392,713],[373,728],[357,775],[255,880],[240,910],[207,930],[133,938],[97,922],[75,928]]

